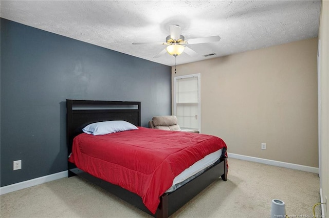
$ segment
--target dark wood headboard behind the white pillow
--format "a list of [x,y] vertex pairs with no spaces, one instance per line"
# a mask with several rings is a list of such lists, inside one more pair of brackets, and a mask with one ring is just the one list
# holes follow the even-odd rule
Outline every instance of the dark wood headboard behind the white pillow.
[[68,155],[71,154],[74,137],[82,133],[86,125],[109,120],[125,120],[140,126],[140,102],[66,99]]

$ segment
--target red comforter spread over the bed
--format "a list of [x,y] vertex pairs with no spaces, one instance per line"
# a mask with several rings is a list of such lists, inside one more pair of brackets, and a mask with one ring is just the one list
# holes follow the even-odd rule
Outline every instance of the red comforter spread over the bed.
[[75,137],[69,161],[91,175],[138,194],[155,213],[174,178],[206,155],[226,147],[215,136],[138,127]]

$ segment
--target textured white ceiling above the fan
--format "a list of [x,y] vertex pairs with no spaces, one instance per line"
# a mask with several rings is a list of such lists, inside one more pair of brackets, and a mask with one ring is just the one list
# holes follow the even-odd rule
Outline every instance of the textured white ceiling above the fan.
[[[1,1],[0,16],[97,46],[174,66],[165,54],[169,25],[185,39],[219,35],[219,42],[189,45],[177,64],[225,56],[318,36],[321,1]],[[204,57],[206,54],[214,56]]]

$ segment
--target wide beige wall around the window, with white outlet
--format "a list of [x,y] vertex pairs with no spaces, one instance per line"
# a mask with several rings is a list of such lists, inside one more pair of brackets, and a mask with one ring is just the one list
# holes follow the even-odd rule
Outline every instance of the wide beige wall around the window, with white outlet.
[[201,74],[201,131],[228,152],[318,167],[317,43],[182,64],[172,78]]

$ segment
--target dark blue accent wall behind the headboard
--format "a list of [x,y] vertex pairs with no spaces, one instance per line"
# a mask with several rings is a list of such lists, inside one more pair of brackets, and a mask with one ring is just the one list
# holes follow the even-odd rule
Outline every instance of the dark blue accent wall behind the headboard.
[[[1,186],[67,170],[66,99],[171,114],[171,67],[1,18]],[[22,169],[13,171],[13,161]]]

